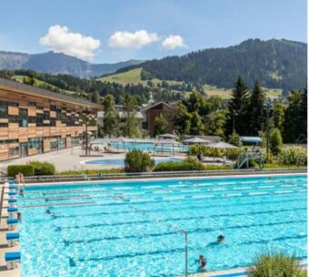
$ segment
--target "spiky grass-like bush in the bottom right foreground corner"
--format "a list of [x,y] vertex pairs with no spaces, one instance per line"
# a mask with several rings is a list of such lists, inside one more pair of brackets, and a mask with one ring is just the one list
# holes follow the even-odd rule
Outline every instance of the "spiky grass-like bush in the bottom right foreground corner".
[[303,276],[297,260],[281,253],[257,256],[251,271],[249,277]]

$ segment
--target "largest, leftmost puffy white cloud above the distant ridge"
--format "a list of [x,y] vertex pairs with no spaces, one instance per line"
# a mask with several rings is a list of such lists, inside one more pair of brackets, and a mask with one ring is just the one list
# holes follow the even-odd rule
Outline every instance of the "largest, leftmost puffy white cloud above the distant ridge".
[[49,46],[55,52],[80,58],[92,58],[94,51],[101,45],[100,40],[92,36],[71,33],[66,26],[50,26],[45,36],[40,38],[40,44]]

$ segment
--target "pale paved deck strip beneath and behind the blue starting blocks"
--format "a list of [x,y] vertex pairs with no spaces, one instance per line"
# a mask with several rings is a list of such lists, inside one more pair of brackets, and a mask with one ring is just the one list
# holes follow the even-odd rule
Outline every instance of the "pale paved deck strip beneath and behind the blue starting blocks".
[[[1,185],[0,188],[2,188]],[[8,192],[8,189],[5,187],[5,193]],[[8,196],[5,194],[4,203],[2,207],[2,216],[1,216],[1,224],[0,224],[0,277],[19,277],[21,276],[21,268],[20,263],[17,263],[17,268],[15,270],[7,270],[6,263],[5,263],[5,252],[13,252],[19,251],[19,242],[15,247],[8,247],[7,242],[5,239],[5,235],[8,231],[6,219],[8,218],[7,215],[7,203]],[[18,227],[15,229],[14,232],[18,232]]]

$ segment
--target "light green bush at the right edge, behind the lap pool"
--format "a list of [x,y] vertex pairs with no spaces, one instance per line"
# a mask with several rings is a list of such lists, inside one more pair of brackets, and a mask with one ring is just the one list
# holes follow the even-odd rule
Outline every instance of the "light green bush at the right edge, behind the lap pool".
[[289,148],[283,149],[279,154],[279,161],[284,165],[306,166],[307,149]]

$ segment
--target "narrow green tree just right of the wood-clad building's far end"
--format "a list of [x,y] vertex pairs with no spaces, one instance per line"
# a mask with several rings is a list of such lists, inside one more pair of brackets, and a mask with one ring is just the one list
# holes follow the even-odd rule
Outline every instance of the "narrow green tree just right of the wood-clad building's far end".
[[103,99],[103,128],[104,136],[109,138],[118,135],[119,131],[119,116],[115,109],[114,97],[110,94],[106,95]]

